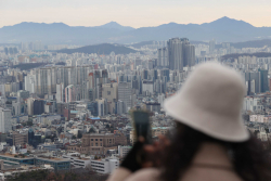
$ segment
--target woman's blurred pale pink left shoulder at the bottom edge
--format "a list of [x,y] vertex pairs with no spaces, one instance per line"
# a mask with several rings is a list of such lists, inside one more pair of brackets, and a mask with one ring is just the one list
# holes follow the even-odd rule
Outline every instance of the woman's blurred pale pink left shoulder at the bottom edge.
[[160,171],[156,168],[141,169],[131,174],[125,181],[156,181],[158,180],[159,173]]

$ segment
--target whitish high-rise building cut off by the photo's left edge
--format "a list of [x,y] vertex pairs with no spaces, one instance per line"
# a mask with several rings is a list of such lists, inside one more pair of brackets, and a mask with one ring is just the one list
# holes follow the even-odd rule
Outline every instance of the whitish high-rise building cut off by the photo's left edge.
[[0,107],[0,132],[5,133],[10,131],[11,128],[11,109]]

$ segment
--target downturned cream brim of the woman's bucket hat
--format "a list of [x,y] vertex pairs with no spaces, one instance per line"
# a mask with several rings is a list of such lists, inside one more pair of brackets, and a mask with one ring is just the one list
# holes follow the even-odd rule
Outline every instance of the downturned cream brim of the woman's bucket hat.
[[228,117],[195,107],[180,96],[172,95],[164,103],[166,113],[177,121],[221,141],[244,142],[249,139],[242,115],[237,120],[229,120]]

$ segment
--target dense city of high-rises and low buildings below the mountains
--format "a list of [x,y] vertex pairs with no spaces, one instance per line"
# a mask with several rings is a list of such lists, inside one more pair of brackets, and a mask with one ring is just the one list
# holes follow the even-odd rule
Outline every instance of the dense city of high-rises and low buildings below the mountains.
[[188,38],[125,46],[0,44],[0,180],[105,180],[136,141],[129,111],[151,113],[154,140],[166,134],[173,121],[164,100],[208,61],[242,74],[244,124],[269,147],[269,46]]

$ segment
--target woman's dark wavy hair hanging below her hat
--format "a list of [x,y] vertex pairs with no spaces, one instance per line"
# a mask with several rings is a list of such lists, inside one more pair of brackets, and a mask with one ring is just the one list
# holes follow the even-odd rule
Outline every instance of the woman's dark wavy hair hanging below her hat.
[[253,135],[242,143],[224,142],[179,122],[162,160],[163,171],[159,180],[180,180],[204,142],[215,142],[228,148],[231,152],[234,170],[244,181],[271,180],[270,155],[263,150],[261,142]]

